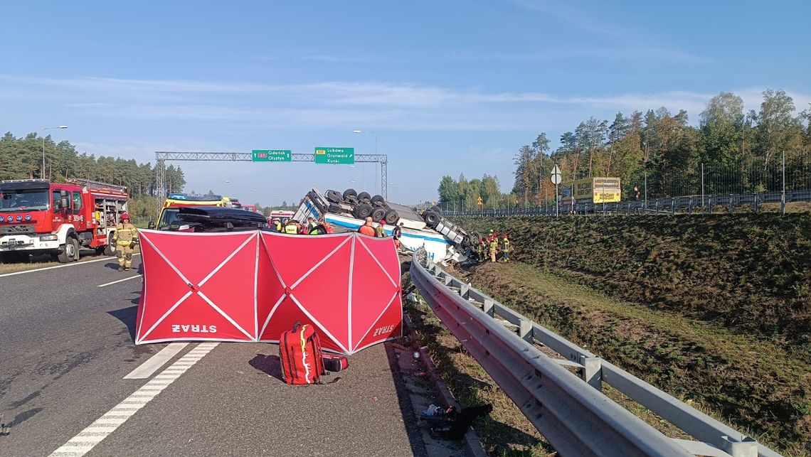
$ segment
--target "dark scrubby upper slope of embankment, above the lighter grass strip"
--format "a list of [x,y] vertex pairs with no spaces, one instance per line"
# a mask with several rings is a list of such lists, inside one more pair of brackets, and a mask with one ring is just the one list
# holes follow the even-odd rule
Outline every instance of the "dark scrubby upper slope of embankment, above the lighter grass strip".
[[811,215],[513,217],[513,258],[622,300],[811,352]]

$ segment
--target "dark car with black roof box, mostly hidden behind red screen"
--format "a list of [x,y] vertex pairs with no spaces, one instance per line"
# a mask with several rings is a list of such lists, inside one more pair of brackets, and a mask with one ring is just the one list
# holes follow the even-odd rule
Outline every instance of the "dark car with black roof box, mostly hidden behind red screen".
[[170,232],[215,233],[270,230],[263,215],[229,207],[181,207]]

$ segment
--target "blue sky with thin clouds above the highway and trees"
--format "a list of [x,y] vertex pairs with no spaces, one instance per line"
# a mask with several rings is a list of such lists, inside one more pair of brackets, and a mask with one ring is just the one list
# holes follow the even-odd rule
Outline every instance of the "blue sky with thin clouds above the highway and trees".
[[[389,199],[496,174],[542,131],[666,106],[691,122],[732,91],[811,102],[811,2],[14,2],[0,28],[0,130],[80,152],[315,146],[388,154]],[[182,163],[187,190],[266,205],[311,186],[380,192],[372,164]],[[227,182],[226,182],[227,181]],[[354,183],[352,183],[354,181]],[[365,187],[364,187],[365,186]],[[376,186],[376,188],[375,188]]]

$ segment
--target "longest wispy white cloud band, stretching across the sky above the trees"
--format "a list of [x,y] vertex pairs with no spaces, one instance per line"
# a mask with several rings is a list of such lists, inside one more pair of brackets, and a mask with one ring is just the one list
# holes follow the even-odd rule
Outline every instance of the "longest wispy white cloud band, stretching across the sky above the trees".
[[[12,87],[18,89],[15,91],[18,96],[56,101],[87,116],[208,122],[249,128],[374,122],[411,130],[522,130],[539,123],[560,122],[556,117],[561,117],[563,112],[585,118],[660,106],[673,112],[686,109],[693,120],[697,120],[697,114],[714,96],[679,91],[560,96],[545,92],[494,92],[481,88],[345,81],[264,84],[3,75],[0,81],[11,82]],[[744,88],[736,93],[744,98],[747,109],[757,109],[762,91],[762,88]],[[805,109],[811,101],[809,94],[789,92],[789,95],[799,110]]]

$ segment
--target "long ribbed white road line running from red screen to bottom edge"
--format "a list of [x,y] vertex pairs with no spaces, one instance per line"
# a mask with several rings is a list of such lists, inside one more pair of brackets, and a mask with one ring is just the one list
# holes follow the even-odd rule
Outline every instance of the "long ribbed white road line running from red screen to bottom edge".
[[[205,344],[205,346],[204,346],[204,344]],[[194,348],[193,351],[195,351],[197,354],[205,355],[208,352],[211,352],[211,350],[213,348],[216,348],[216,347],[217,347],[217,343],[213,343],[213,344],[212,343],[201,343],[196,348]],[[189,353],[191,353],[191,352],[189,352]],[[177,364],[180,361],[184,361],[184,359],[186,359],[187,356],[188,356],[188,354],[186,356],[180,357],[180,359],[178,359],[178,361],[174,362],[174,364],[172,364],[172,365],[169,365],[169,368],[167,368],[167,369],[172,369],[173,367],[177,368],[177,367],[175,367],[175,364]],[[152,356],[152,357],[154,357],[154,356]],[[178,374],[173,374],[172,375],[173,378],[174,379],[179,378],[190,367],[191,367],[191,365],[183,365],[182,371],[180,373],[178,373]],[[166,387],[169,387],[169,384],[171,384],[171,383],[172,383],[171,381],[161,381],[159,383],[156,383],[156,382],[153,382],[153,381],[147,382],[146,384],[144,384],[143,387],[141,387],[137,391],[133,392],[132,395],[127,397],[127,399],[124,399],[120,404],[115,406],[113,409],[110,409],[108,412],[105,412],[105,414],[103,416],[99,417],[91,425],[88,425],[87,428],[85,428],[84,430],[82,430],[81,432],[76,434],[75,437],[69,439],[65,444],[60,446],[56,451],[51,453],[51,456],[52,457],[65,457],[66,455],[72,455],[72,456],[75,456],[75,457],[81,457],[82,455],[87,454],[88,451],[90,451],[93,448],[93,446],[96,446],[104,438],[107,438],[107,436],[109,434],[113,433],[116,429],[118,429],[118,426],[122,425],[132,415],[134,415],[135,412],[138,412],[140,410],[140,408],[144,408],[144,406],[146,406],[146,404],[149,403],[149,401],[152,398],[149,398],[149,399],[143,398],[142,395],[145,392],[149,391],[149,393],[152,394],[152,391],[155,390],[155,388],[158,388],[159,389],[158,392],[155,392],[155,395],[157,395],[157,393],[159,393],[160,391],[163,391]],[[137,397],[135,395],[137,395]],[[138,404],[131,404],[130,402],[135,400],[135,399],[138,399],[139,403]],[[103,432],[103,433],[98,433],[98,434],[94,433],[93,436],[88,436],[87,434],[85,434],[86,432]]]

